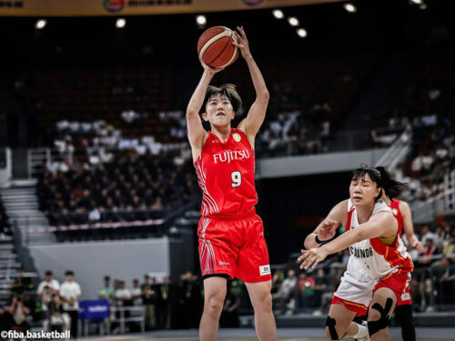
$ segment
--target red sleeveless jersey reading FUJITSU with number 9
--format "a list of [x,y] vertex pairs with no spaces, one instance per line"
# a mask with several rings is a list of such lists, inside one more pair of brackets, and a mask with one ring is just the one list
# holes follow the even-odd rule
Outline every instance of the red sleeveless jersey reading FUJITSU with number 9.
[[194,165],[204,194],[202,216],[243,213],[258,203],[255,155],[241,130],[233,128],[225,143],[208,132]]

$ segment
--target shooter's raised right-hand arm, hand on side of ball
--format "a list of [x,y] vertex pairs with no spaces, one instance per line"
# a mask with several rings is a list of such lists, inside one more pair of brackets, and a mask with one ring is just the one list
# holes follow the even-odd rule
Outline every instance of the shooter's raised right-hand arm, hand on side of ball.
[[256,100],[249,108],[247,117],[240,122],[238,128],[247,134],[250,141],[254,141],[254,138],[256,134],[258,134],[258,130],[266,117],[269,94],[264,77],[260,73],[258,65],[249,51],[248,38],[245,34],[245,30],[243,29],[243,26],[238,27],[237,29],[238,32],[236,31],[235,33],[237,43],[234,42],[233,44],[238,47],[240,53],[247,62],[249,74],[251,75],[256,91]]

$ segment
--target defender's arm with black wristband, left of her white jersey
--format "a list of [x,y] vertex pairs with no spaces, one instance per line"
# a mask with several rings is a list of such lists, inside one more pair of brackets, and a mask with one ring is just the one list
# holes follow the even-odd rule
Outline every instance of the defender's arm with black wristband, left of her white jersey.
[[343,200],[334,206],[329,215],[319,224],[318,227],[305,238],[304,246],[307,249],[319,247],[320,244],[316,242],[316,236],[320,241],[326,241],[335,236],[337,228],[340,225],[346,224],[348,217],[348,200]]

